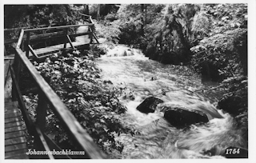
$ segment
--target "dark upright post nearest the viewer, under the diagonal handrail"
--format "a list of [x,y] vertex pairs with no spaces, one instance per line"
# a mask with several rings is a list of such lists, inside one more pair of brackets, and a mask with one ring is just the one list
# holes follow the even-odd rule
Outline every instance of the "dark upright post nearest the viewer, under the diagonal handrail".
[[47,103],[46,97],[40,91],[38,93],[38,107],[37,107],[37,119],[36,124],[38,125],[39,129],[41,129],[42,132],[44,132],[44,129],[46,127],[46,109],[47,109]]

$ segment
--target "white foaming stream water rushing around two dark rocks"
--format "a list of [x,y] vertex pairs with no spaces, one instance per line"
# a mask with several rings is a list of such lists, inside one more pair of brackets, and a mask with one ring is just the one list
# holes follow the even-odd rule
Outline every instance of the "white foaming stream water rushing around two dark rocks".
[[[133,101],[121,100],[128,109],[122,120],[138,130],[135,135],[117,137],[124,144],[122,158],[223,158],[220,155],[229,146],[247,148],[233,118],[210,102],[217,98],[195,91],[206,87],[200,78],[186,74],[188,70],[149,60],[139,50],[133,56],[102,57],[97,63],[102,69],[102,79],[134,93]],[[210,121],[176,129],[163,118],[162,112],[145,114],[136,109],[150,96],[164,101],[158,107],[180,105],[201,110]]]

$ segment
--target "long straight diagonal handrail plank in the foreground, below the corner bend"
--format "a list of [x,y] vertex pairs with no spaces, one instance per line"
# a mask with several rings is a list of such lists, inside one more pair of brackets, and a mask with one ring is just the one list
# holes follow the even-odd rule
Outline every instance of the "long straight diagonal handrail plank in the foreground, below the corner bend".
[[32,63],[22,50],[16,49],[19,58],[21,58],[24,65],[29,70],[30,74],[37,82],[38,88],[42,90],[42,93],[46,96],[47,101],[52,106],[55,115],[58,117],[59,121],[62,122],[66,131],[70,133],[70,136],[77,141],[78,149],[84,150],[90,158],[106,158],[106,154],[102,153],[98,146],[94,143],[94,140],[86,132],[85,129],[79,124],[74,115],[70,113],[70,110],[66,108],[66,105],[61,101],[54,90],[50,88],[50,85],[42,78],[38,71],[34,68]]

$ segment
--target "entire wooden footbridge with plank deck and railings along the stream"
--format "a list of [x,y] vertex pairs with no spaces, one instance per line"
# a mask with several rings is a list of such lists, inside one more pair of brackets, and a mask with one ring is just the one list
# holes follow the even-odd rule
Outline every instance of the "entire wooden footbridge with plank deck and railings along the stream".
[[[5,39],[5,46],[14,45],[14,54],[7,54],[5,49],[5,158],[6,159],[56,159],[56,158],[106,158],[94,143],[86,130],[82,128],[74,115],[61,101],[50,85],[42,78],[31,64],[31,60],[46,58],[59,50],[75,50],[86,48],[92,43],[98,43],[94,34],[94,22],[89,15],[79,14],[82,23],[69,26],[48,26],[37,29],[6,29],[5,33],[20,30],[19,38]],[[73,31],[73,33],[70,33]],[[75,32],[74,32],[75,31]],[[58,45],[47,44],[57,39]],[[44,44],[45,47],[40,46]],[[39,48],[37,48],[39,47]],[[32,119],[22,99],[18,85],[21,69],[27,69],[36,81],[38,87],[37,117]],[[29,83],[28,83],[29,84]],[[51,154],[53,151],[63,151],[44,133],[46,125],[46,108],[54,111],[66,132],[74,141],[78,151],[85,154],[71,156],[66,154]],[[38,155],[28,155],[27,138],[33,137],[31,151],[44,151]],[[64,149],[65,150],[65,149]]]

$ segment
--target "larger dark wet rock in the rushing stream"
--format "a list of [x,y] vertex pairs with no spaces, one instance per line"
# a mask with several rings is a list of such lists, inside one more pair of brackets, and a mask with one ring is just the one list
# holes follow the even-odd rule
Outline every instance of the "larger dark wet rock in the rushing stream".
[[170,125],[177,128],[186,127],[198,122],[208,122],[206,113],[198,110],[183,109],[180,107],[164,107],[164,117],[166,121],[169,121]]

